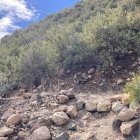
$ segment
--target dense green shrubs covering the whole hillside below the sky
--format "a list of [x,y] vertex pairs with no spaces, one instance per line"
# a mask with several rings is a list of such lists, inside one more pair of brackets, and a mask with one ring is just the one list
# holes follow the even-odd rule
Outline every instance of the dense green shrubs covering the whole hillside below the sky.
[[137,55],[139,0],[84,0],[2,38],[0,84],[39,84],[41,77],[96,67],[112,73],[116,60]]

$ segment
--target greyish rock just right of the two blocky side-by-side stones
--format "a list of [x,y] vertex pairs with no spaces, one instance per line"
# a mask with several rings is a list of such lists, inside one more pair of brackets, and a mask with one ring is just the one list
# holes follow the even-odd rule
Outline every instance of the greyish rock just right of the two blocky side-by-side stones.
[[116,114],[120,113],[120,111],[123,109],[124,105],[121,104],[121,102],[117,101],[113,103],[112,105],[112,111]]

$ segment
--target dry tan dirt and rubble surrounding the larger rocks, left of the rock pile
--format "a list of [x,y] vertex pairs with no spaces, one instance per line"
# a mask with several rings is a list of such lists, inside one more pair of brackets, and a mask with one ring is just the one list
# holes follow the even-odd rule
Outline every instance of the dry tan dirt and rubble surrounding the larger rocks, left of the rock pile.
[[[61,95],[67,96],[68,99],[63,96],[60,99],[59,96]],[[132,137],[124,138],[120,133],[115,133],[112,130],[114,113],[109,110],[100,111],[100,113],[99,111],[89,112],[83,106],[84,103],[94,102],[95,100],[97,103],[103,103],[110,97],[112,97],[110,93],[102,93],[101,95],[91,93],[74,94],[63,90],[59,94],[47,92],[42,92],[40,95],[24,93],[21,97],[13,97],[8,101],[5,99],[0,106],[1,128],[7,125],[7,118],[13,114],[18,114],[21,117],[21,122],[15,126],[8,126],[14,130],[12,134],[4,135],[0,129],[0,140],[39,140],[32,137],[34,131],[44,125],[49,129],[53,140],[67,140],[67,133],[62,134],[65,130],[68,130],[69,140],[133,140]],[[2,100],[4,99],[1,99],[1,103]],[[74,115],[75,110],[68,112],[69,106],[76,106],[78,110],[76,115]],[[62,111],[69,115],[69,120],[62,122],[63,125],[56,125],[52,116],[54,113]],[[59,120],[59,118],[55,119]],[[40,138],[40,140],[47,139]]]

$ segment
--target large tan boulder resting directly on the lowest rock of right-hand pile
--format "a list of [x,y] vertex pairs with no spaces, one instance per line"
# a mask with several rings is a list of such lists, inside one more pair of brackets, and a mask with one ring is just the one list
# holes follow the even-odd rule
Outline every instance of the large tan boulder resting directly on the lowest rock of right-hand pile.
[[132,109],[123,108],[121,112],[118,114],[118,119],[127,122],[130,121],[132,118],[135,117],[136,112]]

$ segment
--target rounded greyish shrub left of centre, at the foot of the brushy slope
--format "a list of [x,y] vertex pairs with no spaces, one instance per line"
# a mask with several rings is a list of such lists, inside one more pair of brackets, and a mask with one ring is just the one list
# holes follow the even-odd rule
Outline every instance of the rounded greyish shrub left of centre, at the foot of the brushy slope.
[[46,77],[48,73],[48,65],[43,52],[36,48],[29,49],[21,60],[20,73],[20,79],[25,84],[38,86],[41,83],[41,78]]

